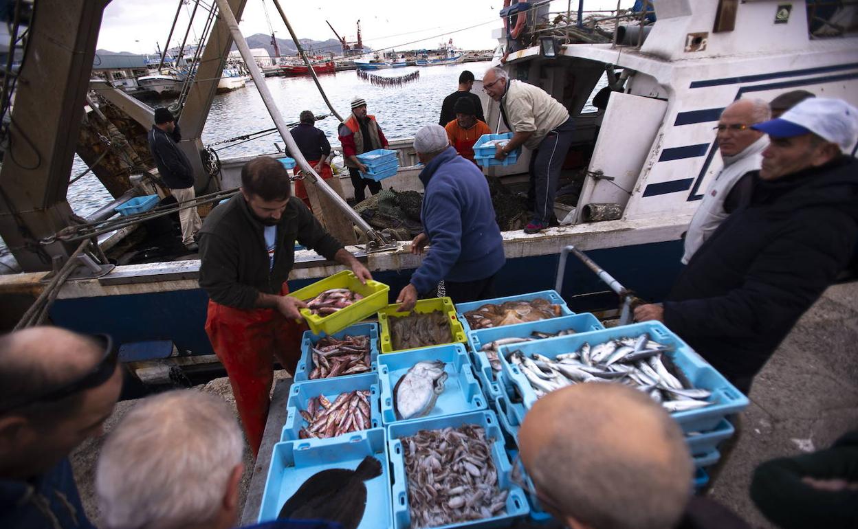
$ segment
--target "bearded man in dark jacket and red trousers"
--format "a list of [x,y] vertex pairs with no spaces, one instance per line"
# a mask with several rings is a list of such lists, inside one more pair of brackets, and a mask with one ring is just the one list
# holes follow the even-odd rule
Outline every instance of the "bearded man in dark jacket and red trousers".
[[286,168],[260,156],[241,169],[241,193],[209,213],[200,230],[200,287],[208,293],[206,333],[233,387],[254,456],[268,418],[274,358],[294,373],[305,326],[287,296],[295,242],[352,268],[369,270],[291,196]]

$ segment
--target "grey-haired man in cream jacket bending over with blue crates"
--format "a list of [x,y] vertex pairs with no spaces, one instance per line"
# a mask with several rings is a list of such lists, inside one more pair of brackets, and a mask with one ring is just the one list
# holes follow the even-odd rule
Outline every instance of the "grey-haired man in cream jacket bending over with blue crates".
[[540,87],[511,80],[502,68],[491,68],[483,75],[483,90],[500,103],[501,116],[513,132],[512,139],[495,153],[505,159],[518,147],[528,147],[530,156],[528,206],[534,216],[525,233],[537,233],[559,225],[554,215],[554,195],[560,170],[572,142],[575,123],[566,107]]

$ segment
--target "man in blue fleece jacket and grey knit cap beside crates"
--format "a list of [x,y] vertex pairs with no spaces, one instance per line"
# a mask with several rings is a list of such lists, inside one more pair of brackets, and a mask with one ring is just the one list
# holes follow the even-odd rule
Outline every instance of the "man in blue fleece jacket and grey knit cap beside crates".
[[426,165],[420,172],[426,192],[420,213],[424,231],[414,237],[411,252],[420,254],[426,243],[432,247],[396,303],[411,310],[440,280],[454,303],[493,298],[494,276],[506,260],[486,177],[450,147],[439,125],[426,125],[414,135],[414,151]]

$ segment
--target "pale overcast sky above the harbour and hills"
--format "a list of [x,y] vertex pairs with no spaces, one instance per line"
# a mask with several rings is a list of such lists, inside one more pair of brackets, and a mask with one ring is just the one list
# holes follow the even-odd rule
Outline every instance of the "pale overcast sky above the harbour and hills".
[[[203,0],[203,3],[215,0]],[[245,35],[270,33],[264,7],[268,9],[271,26],[278,39],[290,39],[273,0],[247,0],[239,27]],[[188,27],[193,0],[184,0],[171,46],[178,46]],[[195,27],[190,33],[200,35],[206,13],[202,5],[197,9]],[[356,22],[365,45],[373,49],[394,47],[397,50],[435,48],[439,43],[453,39],[453,44],[464,50],[492,50],[497,40],[492,29],[500,28],[500,9],[503,0],[460,0],[456,3],[423,3],[402,0],[326,0],[325,2],[299,2],[280,0],[299,39],[335,39],[325,21],[329,21],[341,37],[356,37]],[[555,0],[551,11],[566,10],[567,1]],[[634,0],[621,0],[624,8]],[[452,6],[446,11],[440,7]],[[615,9],[615,0],[587,0],[584,9]],[[323,6],[323,7],[322,7]],[[372,7],[370,7],[372,6]],[[98,47],[110,51],[154,53],[157,42],[163,49],[172,19],[176,15],[178,0],[112,0],[107,5],[101,22]],[[571,3],[577,9],[577,1]],[[432,17],[432,13],[437,13]],[[464,29],[468,28],[468,29]],[[456,30],[462,30],[458,31]],[[453,33],[456,32],[456,33]]]

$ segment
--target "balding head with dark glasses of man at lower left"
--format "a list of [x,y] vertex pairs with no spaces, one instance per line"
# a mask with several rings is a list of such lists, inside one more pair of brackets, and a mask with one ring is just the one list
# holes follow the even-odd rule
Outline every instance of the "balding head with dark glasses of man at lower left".
[[99,340],[61,328],[0,337],[0,477],[44,472],[100,434],[122,388],[121,370],[105,373],[96,387],[56,399],[48,395],[92,373],[105,354]]

